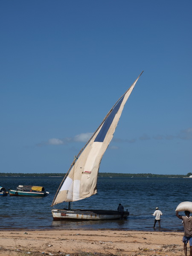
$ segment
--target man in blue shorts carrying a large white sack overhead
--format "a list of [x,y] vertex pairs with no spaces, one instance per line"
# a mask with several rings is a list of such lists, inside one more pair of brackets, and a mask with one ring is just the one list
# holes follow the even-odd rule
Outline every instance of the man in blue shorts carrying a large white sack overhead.
[[178,214],[178,211],[176,211],[176,216],[183,220],[183,226],[184,226],[184,236],[183,236],[183,248],[185,256],[187,256],[187,243],[189,241],[190,245],[190,256],[192,256],[192,218],[190,216],[189,211],[185,211],[186,216],[181,216]]

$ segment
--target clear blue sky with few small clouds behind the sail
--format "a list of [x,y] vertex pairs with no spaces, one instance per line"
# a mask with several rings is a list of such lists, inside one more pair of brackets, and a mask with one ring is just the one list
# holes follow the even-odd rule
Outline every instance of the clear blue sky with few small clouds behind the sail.
[[100,172],[192,172],[192,2],[0,3],[0,172],[65,173],[117,99]]

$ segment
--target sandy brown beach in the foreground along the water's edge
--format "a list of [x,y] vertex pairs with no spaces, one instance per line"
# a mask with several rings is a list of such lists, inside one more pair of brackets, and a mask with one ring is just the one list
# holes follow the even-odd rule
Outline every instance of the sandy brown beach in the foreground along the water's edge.
[[160,231],[0,231],[0,256],[183,256],[182,237],[180,232]]

